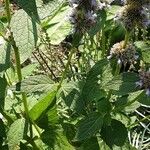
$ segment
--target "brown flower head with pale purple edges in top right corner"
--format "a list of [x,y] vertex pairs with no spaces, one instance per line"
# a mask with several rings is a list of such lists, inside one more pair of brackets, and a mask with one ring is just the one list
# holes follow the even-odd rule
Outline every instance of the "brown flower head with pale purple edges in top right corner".
[[120,20],[128,31],[135,27],[146,28],[150,25],[148,11],[145,7],[149,1],[127,0],[122,10],[116,15],[116,20]]

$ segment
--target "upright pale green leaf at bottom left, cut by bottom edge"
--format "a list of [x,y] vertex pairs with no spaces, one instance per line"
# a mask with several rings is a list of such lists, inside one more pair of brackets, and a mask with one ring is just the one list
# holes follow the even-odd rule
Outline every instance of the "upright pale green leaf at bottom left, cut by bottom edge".
[[13,124],[11,124],[8,131],[8,146],[9,150],[17,150],[19,143],[23,140],[25,130],[25,120],[18,119]]

